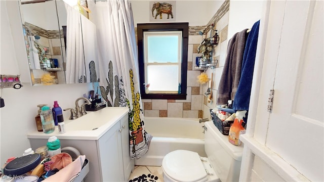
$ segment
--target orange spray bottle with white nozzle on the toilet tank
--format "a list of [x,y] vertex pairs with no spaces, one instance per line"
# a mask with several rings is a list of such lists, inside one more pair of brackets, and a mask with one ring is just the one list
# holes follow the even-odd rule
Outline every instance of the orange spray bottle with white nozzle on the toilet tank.
[[229,143],[239,146],[241,142],[239,140],[239,135],[244,134],[246,129],[242,126],[243,118],[245,117],[245,113],[247,111],[236,111],[235,113],[235,120],[233,125],[229,128],[228,132],[228,141]]

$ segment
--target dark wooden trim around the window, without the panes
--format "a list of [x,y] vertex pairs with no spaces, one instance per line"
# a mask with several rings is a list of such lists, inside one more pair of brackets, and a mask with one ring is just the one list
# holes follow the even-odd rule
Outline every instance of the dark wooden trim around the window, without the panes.
[[[188,23],[138,23],[137,24],[138,63],[139,63],[139,75],[140,75],[140,91],[141,91],[142,99],[173,99],[173,100],[186,99],[187,67],[188,67],[188,63],[187,63],[188,30],[189,30]],[[182,31],[181,94],[145,94],[143,31]]]

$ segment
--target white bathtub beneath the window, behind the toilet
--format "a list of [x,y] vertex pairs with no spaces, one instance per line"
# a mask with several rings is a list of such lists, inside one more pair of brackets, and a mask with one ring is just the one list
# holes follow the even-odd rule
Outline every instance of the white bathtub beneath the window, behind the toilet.
[[204,148],[204,123],[199,119],[145,117],[145,130],[153,138],[147,153],[135,160],[135,165],[161,166],[169,152],[183,149],[207,157]]

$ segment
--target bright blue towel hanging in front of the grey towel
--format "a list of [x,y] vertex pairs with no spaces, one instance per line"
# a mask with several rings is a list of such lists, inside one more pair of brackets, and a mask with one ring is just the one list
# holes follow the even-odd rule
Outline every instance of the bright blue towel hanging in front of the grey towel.
[[259,35],[260,20],[254,23],[249,33],[244,51],[241,77],[233,102],[234,110],[249,110],[255,55]]

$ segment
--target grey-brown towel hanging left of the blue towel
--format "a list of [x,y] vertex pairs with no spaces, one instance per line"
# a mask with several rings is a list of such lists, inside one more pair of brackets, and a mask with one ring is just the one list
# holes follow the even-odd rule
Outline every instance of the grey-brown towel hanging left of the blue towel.
[[218,105],[227,104],[228,100],[234,99],[241,75],[247,30],[235,33],[228,41],[227,56],[218,86]]

